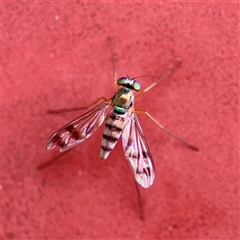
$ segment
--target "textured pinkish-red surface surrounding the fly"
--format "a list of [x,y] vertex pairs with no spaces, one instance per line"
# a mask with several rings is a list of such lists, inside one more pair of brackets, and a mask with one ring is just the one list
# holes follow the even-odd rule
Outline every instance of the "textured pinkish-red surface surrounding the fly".
[[[238,3],[15,3],[3,12],[2,234],[12,239],[238,239]],[[103,127],[58,154],[48,137],[115,90],[110,47],[132,77],[182,66],[138,102],[194,152],[140,121],[157,178],[139,209],[121,143],[101,161]],[[141,78],[142,87],[155,79]]]

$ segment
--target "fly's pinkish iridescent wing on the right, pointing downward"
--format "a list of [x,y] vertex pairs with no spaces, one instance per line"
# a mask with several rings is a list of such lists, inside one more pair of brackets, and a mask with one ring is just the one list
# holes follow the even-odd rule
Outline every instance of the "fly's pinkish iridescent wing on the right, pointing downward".
[[155,167],[139,120],[133,112],[126,117],[122,142],[136,181],[144,188],[150,187],[155,179]]

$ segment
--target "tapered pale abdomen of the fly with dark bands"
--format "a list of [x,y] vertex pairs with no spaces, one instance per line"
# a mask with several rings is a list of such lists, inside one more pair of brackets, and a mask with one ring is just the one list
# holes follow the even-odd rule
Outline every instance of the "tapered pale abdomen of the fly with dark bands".
[[121,136],[124,127],[125,116],[126,113],[120,115],[115,111],[111,112],[103,132],[100,152],[100,157],[102,159],[106,159],[108,157],[109,153],[115,147],[119,137]]

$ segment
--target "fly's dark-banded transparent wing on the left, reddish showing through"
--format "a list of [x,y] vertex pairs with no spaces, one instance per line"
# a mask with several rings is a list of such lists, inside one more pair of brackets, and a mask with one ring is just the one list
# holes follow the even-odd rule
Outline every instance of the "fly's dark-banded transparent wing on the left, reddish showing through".
[[64,152],[90,137],[104,122],[111,109],[110,106],[110,102],[101,102],[82,116],[60,128],[48,139],[47,151],[59,146],[60,152]]

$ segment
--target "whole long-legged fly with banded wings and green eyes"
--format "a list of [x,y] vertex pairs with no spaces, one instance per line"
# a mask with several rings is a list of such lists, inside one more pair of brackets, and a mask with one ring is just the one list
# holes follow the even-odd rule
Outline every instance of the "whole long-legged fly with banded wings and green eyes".
[[[127,161],[130,164],[135,183],[137,182],[143,188],[148,188],[153,184],[156,173],[153,158],[147,141],[144,137],[144,133],[139,123],[137,114],[147,115],[155,124],[157,124],[159,128],[177,140],[181,141],[191,149],[198,151],[198,148],[196,146],[186,142],[182,138],[176,136],[168,129],[163,127],[147,111],[135,110],[134,108],[135,100],[137,100],[142,94],[149,91],[161,80],[170,75],[176,68],[181,65],[181,62],[178,61],[173,68],[168,70],[156,82],[141,91],[140,83],[134,78],[126,76],[116,80],[116,68],[113,58],[111,38],[109,40],[113,59],[115,85],[117,89],[116,93],[111,98],[100,97],[86,107],[50,111],[50,113],[60,113],[89,109],[92,107],[85,114],[81,115],[80,117],[57,130],[48,139],[46,143],[46,150],[50,151],[55,147],[59,147],[60,152],[66,153],[79,143],[89,138],[105,122],[105,128],[101,142],[100,157],[102,159],[106,159],[109,156],[110,152],[114,149],[118,139],[122,137],[123,151]],[[134,95],[134,92],[137,92],[137,94]],[[44,168],[45,166],[56,161],[61,156],[62,155],[57,156],[48,163],[40,165],[38,169]],[[141,208],[140,191],[137,184],[135,185]],[[141,215],[143,214],[141,213]]]

